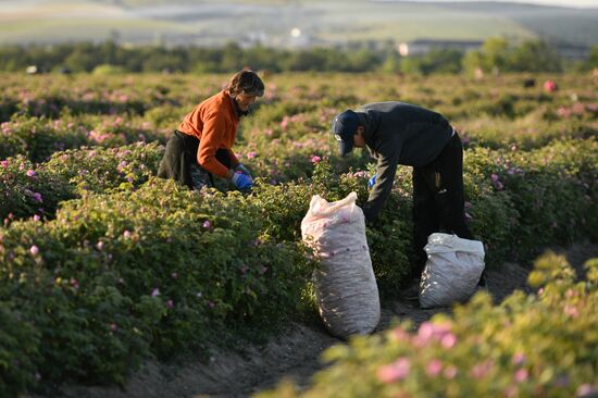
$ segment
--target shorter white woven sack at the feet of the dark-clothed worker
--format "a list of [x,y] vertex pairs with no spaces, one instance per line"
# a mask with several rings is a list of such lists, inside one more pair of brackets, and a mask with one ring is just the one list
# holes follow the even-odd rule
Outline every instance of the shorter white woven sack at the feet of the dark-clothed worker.
[[420,307],[449,307],[468,300],[484,271],[484,245],[457,235],[429,235],[420,282]]

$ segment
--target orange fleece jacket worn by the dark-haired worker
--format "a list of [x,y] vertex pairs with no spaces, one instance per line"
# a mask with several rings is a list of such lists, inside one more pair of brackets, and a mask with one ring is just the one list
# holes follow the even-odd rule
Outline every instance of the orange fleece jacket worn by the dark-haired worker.
[[223,90],[194,108],[185,116],[178,130],[199,139],[197,162],[200,166],[220,177],[228,178],[228,169],[216,160],[216,150],[226,149],[233,166],[239,163],[232,150],[238,124],[233,99]]

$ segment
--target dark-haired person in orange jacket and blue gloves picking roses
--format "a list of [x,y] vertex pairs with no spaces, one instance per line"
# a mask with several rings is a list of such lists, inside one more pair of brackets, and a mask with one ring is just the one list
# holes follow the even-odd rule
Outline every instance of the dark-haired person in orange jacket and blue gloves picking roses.
[[232,148],[240,117],[263,95],[264,84],[256,72],[236,73],[226,88],[195,107],[174,130],[158,176],[196,190],[213,187],[213,175],[231,181],[239,190],[251,188],[251,174]]

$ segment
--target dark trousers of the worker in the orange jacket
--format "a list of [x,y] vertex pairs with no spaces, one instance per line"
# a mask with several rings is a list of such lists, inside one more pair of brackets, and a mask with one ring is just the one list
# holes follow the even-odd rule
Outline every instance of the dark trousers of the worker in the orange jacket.
[[[172,178],[189,189],[214,186],[212,174],[197,162],[199,139],[179,130],[174,130],[166,144],[164,157],[158,169],[158,176]],[[231,169],[231,156],[226,149],[216,151],[216,160]]]

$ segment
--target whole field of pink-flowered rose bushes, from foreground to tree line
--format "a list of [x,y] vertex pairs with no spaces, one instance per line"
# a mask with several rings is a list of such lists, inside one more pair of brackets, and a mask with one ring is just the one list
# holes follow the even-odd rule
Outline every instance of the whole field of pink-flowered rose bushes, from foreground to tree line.
[[[0,396],[123,383],[148,358],[202,355],[213,343],[311,320],[317,264],[301,245],[300,221],[315,194],[366,200],[367,156],[339,158],[328,130],[336,113],[365,102],[428,107],[460,132],[466,215],[487,266],[531,264],[546,247],[598,240],[598,82],[590,75],[264,74],[265,96],[235,148],[258,177],[251,194],[224,181],[220,191],[192,192],[155,178],[172,130],[227,78],[2,75]],[[530,78],[536,85],[524,87]],[[549,79],[556,89],[545,87]],[[410,173],[399,169],[385,211],[367,227],[383,300],[409,276]],[[331,351],[339,366],[313,394],[349,388],[341,380],[363,366],[356,396],[440,394],[448,382],[428,383],[428,373],[448,374],[451,396],[596,388],[598,341],[588,323],[597,315],[596,265],[575,284],[561,259],[538,264],[541,295],[515,294],[500,307],[482,295],[416,335],[398,325]],[[552,329],[562,331],[559,339]],[[454,350],[438,347],[446,335]],[[465,369],[475,366],[481,382],[465,387]],[[507,390],[513,372],[522,384]],[[553,389],[561,380],[563,389]]]

